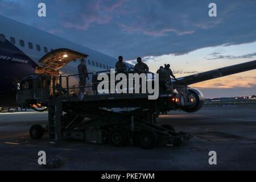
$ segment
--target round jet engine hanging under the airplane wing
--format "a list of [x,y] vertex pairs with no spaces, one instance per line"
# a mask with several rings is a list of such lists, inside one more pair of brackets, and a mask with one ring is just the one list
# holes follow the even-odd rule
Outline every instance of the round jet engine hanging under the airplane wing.
[[181,110],[187,113],[194,113],[200,110],[204,105],[204,95],[200,90],[188,88],[187,89],[189,105],[184,105]]

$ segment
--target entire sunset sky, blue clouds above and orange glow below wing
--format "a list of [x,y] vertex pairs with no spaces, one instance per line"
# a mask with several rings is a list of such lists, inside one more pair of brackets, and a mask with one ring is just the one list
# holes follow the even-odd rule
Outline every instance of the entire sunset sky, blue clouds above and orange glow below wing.
[[[47,16],[39,18],[38,3]],[[209,3],[217,17],[209,17]],[[0,0],[0,14],[155,72],[176,77],[256,60],[256,1]],[[1,25],[2,26],[2,25]],[[256,71],[201,82],[207,98],[256,94]]]

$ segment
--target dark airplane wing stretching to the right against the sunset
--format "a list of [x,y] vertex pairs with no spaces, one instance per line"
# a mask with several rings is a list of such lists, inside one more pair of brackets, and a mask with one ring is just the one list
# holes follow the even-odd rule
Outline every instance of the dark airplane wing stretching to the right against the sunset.
[[185,77],[180,77],[180,78],[177,78],[177,80],[173,81],[173,83],[175,85],[191,85],[197,82],[211,80],[211,79],[219,78],[222,76],[228,76],[236,73],[250,71],[252,69],[256,69],[256,60],[232,65],[229,67],[213,69],[207,72],[196,73],[196,74],[185,76]]

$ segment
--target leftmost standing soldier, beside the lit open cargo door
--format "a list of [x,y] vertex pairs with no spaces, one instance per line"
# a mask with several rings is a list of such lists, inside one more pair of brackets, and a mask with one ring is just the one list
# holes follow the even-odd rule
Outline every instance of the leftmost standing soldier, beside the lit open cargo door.
[[82,93],[84,93],[85,90],[85,85],[86,85],[86,78],[88,78],[89,80],[89,76],[88,76],[88,71],[87,71],[87,67],[85,64],[85,60],[81,59],[81,63],[77,66],[78,72],[79,72],[79,86],[80,91]]

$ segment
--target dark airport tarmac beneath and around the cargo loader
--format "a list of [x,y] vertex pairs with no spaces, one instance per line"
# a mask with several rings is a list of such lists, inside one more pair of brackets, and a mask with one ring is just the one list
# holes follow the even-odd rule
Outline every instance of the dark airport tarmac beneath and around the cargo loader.
[[[171,111],[158,125],[170,124],[194,137],[179,147],[143,150],[65,141],[49,144],[48,135],[32,140],[31,125],[47,123],[47,112],[0,114],[0,170],[255,170],[256,106],[203,107],[197,113]],[[58,156],[63,165],[44,168],[38,152]],[[216,151],[217,164],[209,164]]]

